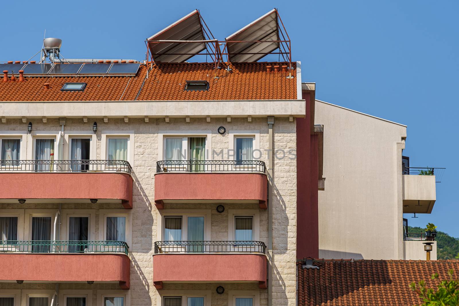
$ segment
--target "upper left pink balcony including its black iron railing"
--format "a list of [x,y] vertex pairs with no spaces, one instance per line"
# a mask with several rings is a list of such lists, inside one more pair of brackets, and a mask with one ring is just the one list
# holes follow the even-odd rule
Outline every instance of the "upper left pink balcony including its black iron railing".
[[0,161],[0,203],[97,200],[132,208],[130,174],[127,161]]

